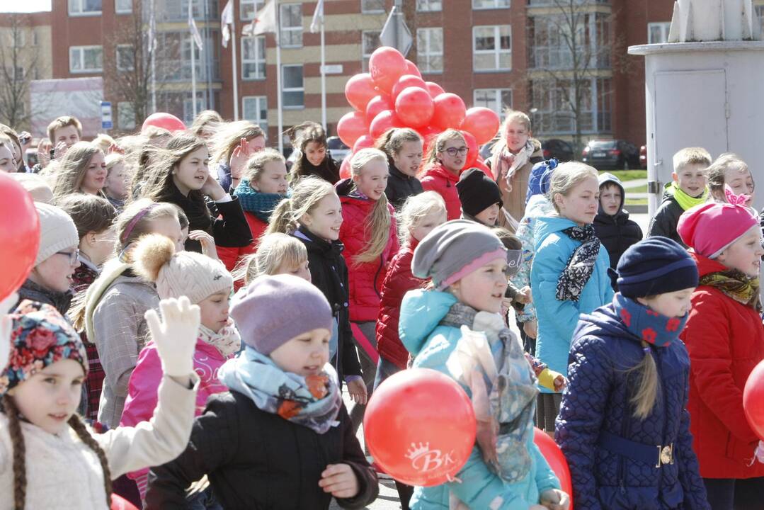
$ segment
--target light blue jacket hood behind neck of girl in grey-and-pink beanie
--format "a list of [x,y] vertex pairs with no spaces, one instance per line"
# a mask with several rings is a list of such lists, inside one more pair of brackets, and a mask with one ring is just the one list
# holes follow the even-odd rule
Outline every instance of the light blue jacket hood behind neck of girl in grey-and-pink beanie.
[[456,302],[456,297],[450,292],[424,289],[406,292],[400,304],[398,332],[400,341],[411,356],[419,354],[432,330]]

